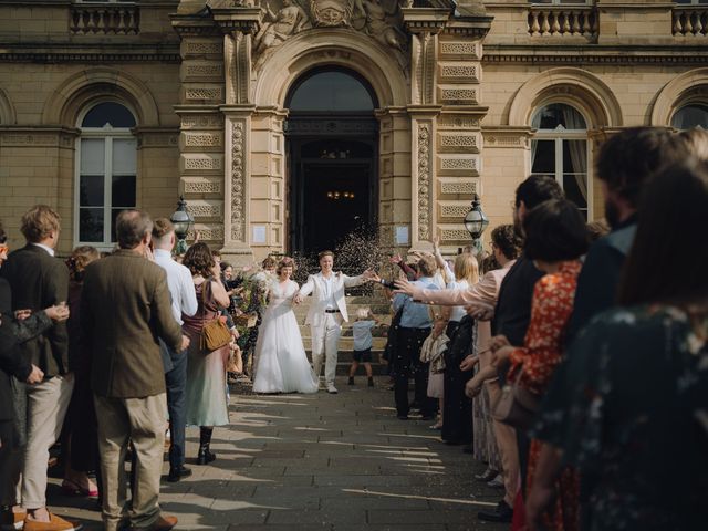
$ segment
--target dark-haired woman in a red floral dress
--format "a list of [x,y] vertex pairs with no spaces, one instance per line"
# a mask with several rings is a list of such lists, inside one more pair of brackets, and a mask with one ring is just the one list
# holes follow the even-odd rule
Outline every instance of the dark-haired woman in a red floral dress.
[[[531,210],[523,223],[524,252],[537,268],[548,273],[533,290],[531,321],[523,346],[512,346],[504,336],[492,340],[497,366],[510,364],[508,379],[543,396],[555,367],[563,357],[563,336],[573,311],[579,258],[587,250],[585,221],[577,208],[566,200],[551,200]],[[535,470],[540,441],[532,439],[527,470],[527,492]],[[556,483],[555,503],[546,514],[551,531],[577,529],[576,473],[568,469]]]

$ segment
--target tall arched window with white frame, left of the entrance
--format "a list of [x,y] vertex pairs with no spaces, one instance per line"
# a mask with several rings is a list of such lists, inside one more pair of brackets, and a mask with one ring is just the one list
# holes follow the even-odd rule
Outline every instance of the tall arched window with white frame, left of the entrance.
[[116,102],[101,102],[81,117],[76,153],[76,243],[111,248],[115,218],[135,208],[137,140],[133,113]]

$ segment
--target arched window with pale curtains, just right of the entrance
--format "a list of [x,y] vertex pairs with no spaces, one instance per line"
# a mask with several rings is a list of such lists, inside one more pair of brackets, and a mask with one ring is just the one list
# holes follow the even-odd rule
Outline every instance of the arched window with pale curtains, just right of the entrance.
[[531,119],[537,134],[531,140],[531,174],[553,177],[565,197],[589,219],[587,124],[583,115],[564,103],[538,110]]

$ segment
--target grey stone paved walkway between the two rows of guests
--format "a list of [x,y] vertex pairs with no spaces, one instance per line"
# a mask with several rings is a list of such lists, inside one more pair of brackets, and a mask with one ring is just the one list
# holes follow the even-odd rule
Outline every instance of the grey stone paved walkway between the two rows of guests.
[[[365,383],[340,378],[339,395],[233,394],[231,426],[215,429],[217,460],[188,458],[195,473],[163,483],[163,510],[181,530],[508,529],[476,518],[501,496],[473,479],[483,466],[441,444],[429,421],[398,420],[384,378]],[[188,456],[197,436],[188,430]],[[101,529],[95,502],[63,497],[52,481],[58,513]]]

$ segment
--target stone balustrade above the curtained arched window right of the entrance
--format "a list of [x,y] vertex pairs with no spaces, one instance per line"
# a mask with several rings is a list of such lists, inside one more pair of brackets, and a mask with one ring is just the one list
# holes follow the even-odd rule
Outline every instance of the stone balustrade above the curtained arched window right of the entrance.
[[592,6],[533,6],[528,19],[531,37],[597,34],[597,11]]

